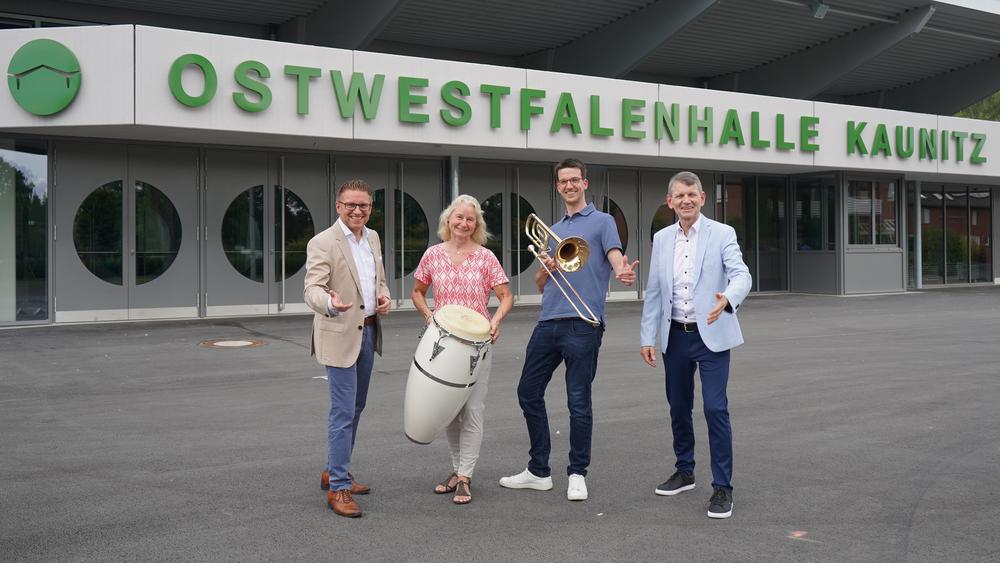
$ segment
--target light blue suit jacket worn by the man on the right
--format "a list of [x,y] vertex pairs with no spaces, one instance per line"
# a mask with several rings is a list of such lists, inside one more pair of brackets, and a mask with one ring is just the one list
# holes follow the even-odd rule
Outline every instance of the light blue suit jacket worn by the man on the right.
[[[736,231],[724,223],[702,216],[701,232],[695,248],[694,262],[694,312],[698,332],[705,346],[713,352],[722,352],[743,344],[743,333],[736,320],[736,310],[750,292],[750,270],[743,263]],[[670,314],[674,298],[674,243],[677,240],[677,223],[660,229],[653,236],[653,254],[649,262],[649,280],[642,306],[641,344],[656,346],[660,337],[660,351],[667,351],[670,335]],[[715,294],[722,293],[729,300],[729,307],[712,324],[708,312],[715,306]]]

